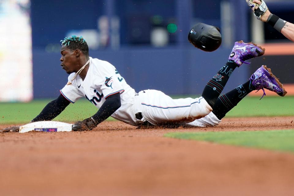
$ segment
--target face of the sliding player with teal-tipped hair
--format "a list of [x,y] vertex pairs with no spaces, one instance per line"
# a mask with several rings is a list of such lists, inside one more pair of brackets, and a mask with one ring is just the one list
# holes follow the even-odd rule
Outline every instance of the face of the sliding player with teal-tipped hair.
[[66,73],[68,74],[77,72],[79,68],[77,67],[78,62],[77,62],[77,57],[75,55],[75,52],[70,51],[65,46],[62,46],[60,53],[61,53],[60,65],[62,66],[62,69],[64,69]]

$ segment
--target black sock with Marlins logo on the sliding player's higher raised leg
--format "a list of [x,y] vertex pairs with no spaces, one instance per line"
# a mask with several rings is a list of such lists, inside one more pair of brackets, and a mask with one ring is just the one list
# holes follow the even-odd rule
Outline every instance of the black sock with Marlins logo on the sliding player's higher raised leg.
[[202,97],[204,97],[211,107],[216,103],[217,98],[220,96],[220,93],[236,67],[236,63],[229,60],[205,86]]

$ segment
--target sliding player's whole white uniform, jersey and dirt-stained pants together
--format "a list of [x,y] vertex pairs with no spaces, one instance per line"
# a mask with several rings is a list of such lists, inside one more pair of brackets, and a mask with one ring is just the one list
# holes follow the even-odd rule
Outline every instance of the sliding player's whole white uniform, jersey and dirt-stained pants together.
[[[146,120],[153,125],[189,123],[189,126],[213,126],[220,122],[208,115],[212,108],[203,97],[172,99],[157,90],[135,93],[113,65],[97,58],[90,57],[84,81],[79,75],[71,81],[74,74],[70,74],[68,83],[60,90],[67,100],[75,103],[85,97],[100,108],[108,96],[120,93],[121,107],[111,117],[130,125],[138,126]],[[142,119],[135,117],[138,112],[141,112]]]

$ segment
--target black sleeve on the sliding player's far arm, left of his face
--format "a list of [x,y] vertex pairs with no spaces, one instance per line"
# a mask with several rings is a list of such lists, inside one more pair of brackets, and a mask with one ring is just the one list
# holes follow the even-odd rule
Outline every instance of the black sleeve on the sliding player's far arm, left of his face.
[[37,115],[36,118],[32,119],[31,122],[52,120],[58,116],[69,104],[70,101],[60,94],[57,99],[49,102],[40,112],[40,114]]

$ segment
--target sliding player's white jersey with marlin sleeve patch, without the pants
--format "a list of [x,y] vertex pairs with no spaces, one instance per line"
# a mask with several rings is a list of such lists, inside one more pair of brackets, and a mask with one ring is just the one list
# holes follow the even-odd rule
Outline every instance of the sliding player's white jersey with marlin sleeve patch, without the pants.
[[68,84],[60,90],[70,102],[75,103],[85,97],[97,108],[100,108],[108,96],[120,93],[121,107],[111,117],[136,126],[134,113],[134,95],[132,89],[119,72],[107,61],[90,57],[90,65],[84,81],[78,75],[72,82],[75,73],[68,77]]

